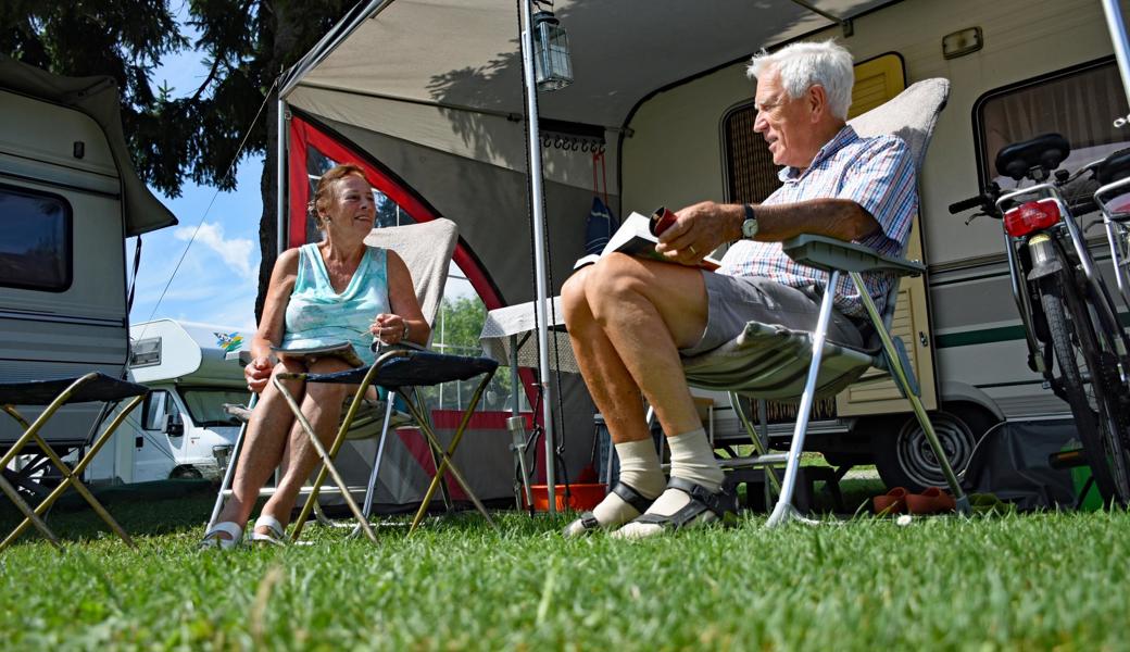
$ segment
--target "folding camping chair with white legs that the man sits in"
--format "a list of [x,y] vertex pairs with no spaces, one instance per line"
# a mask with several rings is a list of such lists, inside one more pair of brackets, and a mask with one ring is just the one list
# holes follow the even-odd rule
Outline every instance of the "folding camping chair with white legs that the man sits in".
[[[901,137],[911,150],[915,169],[921,169],[927,145],[948,96],[948,80],[919,81],[886,104],[851,120],[850,124],[860,136],[893,133]],[[785,473],[781,494],[767,524],[774,527],[791,518],[799,518],[792,506],[792,494],[812,401],[833,395],[851,385],[870,367],[889,373],[899,391],[910,400],[938,459],[946,483],[954,493],[958,511],[968,513],[968,499],[962,492],[957,476],[946,459],[930,418],[919,399],[920,390],[906,357],[905,347],[901,339],[892,338],[889,332],[898,296],[898,278],[919,276],[925,271],[925,267],[919,262],[884,257],[857,244],[815,235],[798,236],[782,243],[782,249],[794,261],[827,272],[829,275],[828,284],[825,286],[827,288],[836,287],[841,275],[847,273],[862,297],[869,319],[868,330],[871,332],[864,332],[866,345],[861,349],[827,341],[834,293],[825,292],[814,332],[749,322],[731,341],[702,356],[684,360],[684,371],[689,384],[731,392],[731,400],[739,410],[733,393],[786,401],[800,398],[792,444],[784,459]],[[877,311],[875,302],[863,286],[860,275],[866,271],[881,271],[895,276],[883,314]],[[764,453],[762,442],[750,428],[748,420],[742,418],[742,423],[749,431],[755,447],[759,453]],[[765,457],[762,460],[774,463],[779,458],[775,457]]]

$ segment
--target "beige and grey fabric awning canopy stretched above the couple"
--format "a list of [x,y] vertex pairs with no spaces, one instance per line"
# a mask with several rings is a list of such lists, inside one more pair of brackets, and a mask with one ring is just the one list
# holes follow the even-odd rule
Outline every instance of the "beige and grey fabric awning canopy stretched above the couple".
[[[888,3],[807,0],[814,11],[793,0],[556,0],[575,81],[539,94],[542,136],[602,136],[607,192],[619,212],[619,142],[642,102],[835,25],[828,16]],[[531,298],[520,8],[514,0],[363,3],[282,86],[292,107],[453,219],[507,304]],[[582,253],[594,166],[579,151],[544,148],[542,156],[556,290]]]

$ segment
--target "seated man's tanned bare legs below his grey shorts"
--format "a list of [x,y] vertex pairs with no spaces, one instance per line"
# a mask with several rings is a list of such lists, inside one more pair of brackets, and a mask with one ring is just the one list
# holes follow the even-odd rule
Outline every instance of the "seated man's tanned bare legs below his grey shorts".
[[[672,476],[716,492],[723,478],[706,442],[678,349],[702,337],[707,297],[696,268],[614,254],[571,278],[562,293],[582,375],[616,444],[650,440],[640,393],[672,434]],[[617,447],[619,451],[619,446]],[[654,466],[658,468],[658,458]],[[650,513],[689,497],[667,490]],[[605,523],[601,523],[605,524]],[[647,527],[658,531],[659,527]],[[649,532],[650,533],[650,532]]]

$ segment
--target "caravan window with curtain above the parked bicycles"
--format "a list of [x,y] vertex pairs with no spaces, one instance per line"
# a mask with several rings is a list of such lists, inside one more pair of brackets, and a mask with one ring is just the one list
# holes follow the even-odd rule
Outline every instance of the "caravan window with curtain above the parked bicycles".
[[1067,169],[1123,149],[1130,146],[1130,128],[1118,129],[1114,120],[1125,115],[1127,96],[1113,60],[990,90],[973,108],[981,184],[996,181],[1014,188],[1011,179],[997,175],[997,153],[1041,133],[1060,133],[1071,144],[1071,156],[1063,162]]

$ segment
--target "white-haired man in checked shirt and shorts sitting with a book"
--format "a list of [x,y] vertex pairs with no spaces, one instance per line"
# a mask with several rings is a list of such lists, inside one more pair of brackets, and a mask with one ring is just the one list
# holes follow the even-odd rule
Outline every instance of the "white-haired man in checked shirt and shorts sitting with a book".
[[[860,138],[845,123],[851,54],[832,42],[798,43],[754,56],[748,75],[757,81],[754,131],[768,142],[773,163],[785,166],[784,185],[757,206],[704,201],[678,211],[657,251],[681,264],[614,254],[562,289],[581,373],[620,460],[619,484],[565,529],[567,537],[617,527],[614,536],[646,537],[732,513],[680,356],[721,346],[747,321],[815,328],[827,277],[792,262],[782,241],[809,233],[885,254],[905,249],[918,205],[913,165],[898,138]],[[716,273],[693,267],[729,242]],[[892,279],[864,279],[881,310]],[[833,292],[828,337],[859,344],[850,321],[864,315],[859,296],[847,279]],[[668,435],[669,483],[641,393]]]

